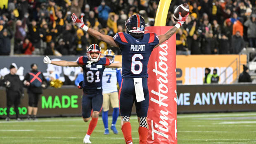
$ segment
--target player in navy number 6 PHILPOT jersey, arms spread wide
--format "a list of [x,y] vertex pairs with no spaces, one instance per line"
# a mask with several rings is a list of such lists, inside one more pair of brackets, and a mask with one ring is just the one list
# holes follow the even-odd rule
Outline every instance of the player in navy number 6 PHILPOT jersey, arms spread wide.
[[126,144],[133,144],[131,135],[130,115],[135,102],[139,126],[140,144],[147,144],[147,110],[149,106],[149,92],[147,87],[147,63],[152,50],[171,38],[188,17],[179,13],[177,24],[163,35],[145,32],[145,20],[134,14],[125,22],[126,32],[116,33],[114,37],[104,35],[83,24],[83,16],[78,19],[76,14],[71,18],[76,26],[89,33],[98,40],[113,47],[119,47],[122,52],[122,84],[119,90],[120,113],[123,121],[122,132]]

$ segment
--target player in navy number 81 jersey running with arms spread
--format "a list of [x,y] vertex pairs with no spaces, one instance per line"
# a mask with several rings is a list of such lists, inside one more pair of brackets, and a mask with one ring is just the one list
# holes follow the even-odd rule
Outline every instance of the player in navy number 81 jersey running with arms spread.
[[112,63],[106,58],[100,58],[101,48],[98,45],[92,44],[88,47],[87,57],[78,57],[76,61],[51,61],[48,56],[44,57],[43,62],[46,64],[54,64],[57,66],[81,66],[83,68],[83,88],[82,99],[82,116],[85,122],[88,122],[91,117],[87,134],[83,139],[83,143],[91,144],[90,135],[97,125],[99,113],[102,108],[102,75],[106,66],[117,68],[122,67],[122,63]]

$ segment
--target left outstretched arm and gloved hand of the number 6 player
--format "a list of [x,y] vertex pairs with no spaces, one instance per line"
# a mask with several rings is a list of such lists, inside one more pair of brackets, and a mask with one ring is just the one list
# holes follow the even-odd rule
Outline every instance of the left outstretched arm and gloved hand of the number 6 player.
[[97,38],[98,40],[104,41],[113,47],[119,47],[119,45],[114,41],[113,37],[109,35],[103,35],[99,31],[96,31],[92,28],[88,28],[88,26],[85,26],[85,24],[83,24],[83,16],[81,16],[81,18],[78,19],[76,14],[72,14],[71,18],[73,23],[76,23],[76,26],[78,26],[78,28],[81,28],[83,31],[89,33],[89,35],[93,36],[94,38]]

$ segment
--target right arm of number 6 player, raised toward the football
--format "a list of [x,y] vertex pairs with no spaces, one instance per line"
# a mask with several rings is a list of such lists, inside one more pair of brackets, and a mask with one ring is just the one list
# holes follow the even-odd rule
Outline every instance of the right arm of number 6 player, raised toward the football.
[[173,28],[169,29],[164,35],[159,35],[159,44],[156,45],[154,48],[158,47],[159,45],[161,45],[164,41],[168,40],[169,38],[171,38],[171,36],[173,36],[174,33],[176,33],[176,31],[178,31],[178,29],[184,24],[184,22],[186,21],[186,19],[188,18],[189,13],[185,16],[185,17],[181,17],[181,13],[179,12],[179,19],[178,19],[178,23],[173,26]]

